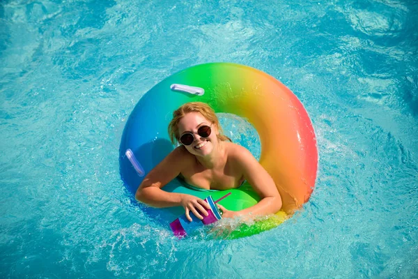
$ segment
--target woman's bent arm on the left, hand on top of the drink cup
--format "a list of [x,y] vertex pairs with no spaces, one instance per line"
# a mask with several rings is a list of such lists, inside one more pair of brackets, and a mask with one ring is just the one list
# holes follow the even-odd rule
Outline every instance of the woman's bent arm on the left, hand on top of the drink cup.
[[184,167],[187,167],[188,156],[183,146],[171,151],[160,164],[145,176],[141,185],[139,185],[135,198],[154,207],[183,206],[186,217],[190,221],[192,218],[189,216],[189,211],[192,211],[197,218],[203,219],[203,216],[196,209],[208,216],[205,208],[210,209],[210,206],[203,199],[192,195],[168,193],[161,189],[175,179]]

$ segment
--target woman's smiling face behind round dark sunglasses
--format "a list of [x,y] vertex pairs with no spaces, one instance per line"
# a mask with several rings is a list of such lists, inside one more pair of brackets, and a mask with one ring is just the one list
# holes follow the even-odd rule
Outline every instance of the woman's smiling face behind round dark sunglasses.
[[[210,126],[212,133],[209,137],[201,137],[197,129],[201,126]],[[194,141],[190,145],[185,145],[187,151],[195,156],[207,156],[212,153],[217,145],[218,130],[214,123],[203,117],[199,112],[189,112],[178,122],[178,135],[181,137],[185,133],[192,133]]]

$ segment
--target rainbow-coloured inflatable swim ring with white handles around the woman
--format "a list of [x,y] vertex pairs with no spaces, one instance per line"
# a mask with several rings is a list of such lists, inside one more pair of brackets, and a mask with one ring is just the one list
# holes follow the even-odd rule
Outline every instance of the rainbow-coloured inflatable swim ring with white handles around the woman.
[[[182,93],[182,85],[176,84],[194,86],[196,90],[194,94]],[[167,132],[173,111],[192,101],[207,103],[217,113],[241,116],[256,128],[261,140],[260,163],[272,176],[282,198],[278,216],[291,214],[307,202],[316,180],[318,151],[306,110],[291,90],[274,77],[233,63],[187,68],[167,77],[139,100],[127,120],[120,146],[121,177],[131,193],[135,193],[144,177],[137,174],[125,152],[131,149],[144,173],[148,173],[175,147]],[[248,183],[238,189],[208,193],[192,190],[174,179],[163,189],[202,199],[208,195],[217,199],[232,192],[221,204],[234,211],[259,200]]]

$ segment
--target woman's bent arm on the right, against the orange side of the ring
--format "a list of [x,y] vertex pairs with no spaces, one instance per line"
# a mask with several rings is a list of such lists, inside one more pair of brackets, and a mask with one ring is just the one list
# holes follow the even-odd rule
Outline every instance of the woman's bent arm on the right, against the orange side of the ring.
[[[256,193],[261,197],[260,202],[248,209],[241,211],[228,211],[224,213],[224,217],[231,218],[238,215],[268,215],[277,213],[281,209],[281,197],[279,191],[274,184],[272,176],[264,169],[260,163],[245,149],[245,147],[235,145],[233,160],[242,170],[245,179],[254,188]],[[219,206],[225,210],[223,206]]]

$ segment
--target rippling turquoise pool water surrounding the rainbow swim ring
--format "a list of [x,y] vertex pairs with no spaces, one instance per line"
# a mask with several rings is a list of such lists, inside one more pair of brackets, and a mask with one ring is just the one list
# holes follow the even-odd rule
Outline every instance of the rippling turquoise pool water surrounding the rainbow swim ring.
[[[0,278],[417,278],[417,15],[413,0],[1,1]],[[318,179],[275,229],[178,241],[132,202],[118,145],[146,91],[213,61],[295,92]]]

